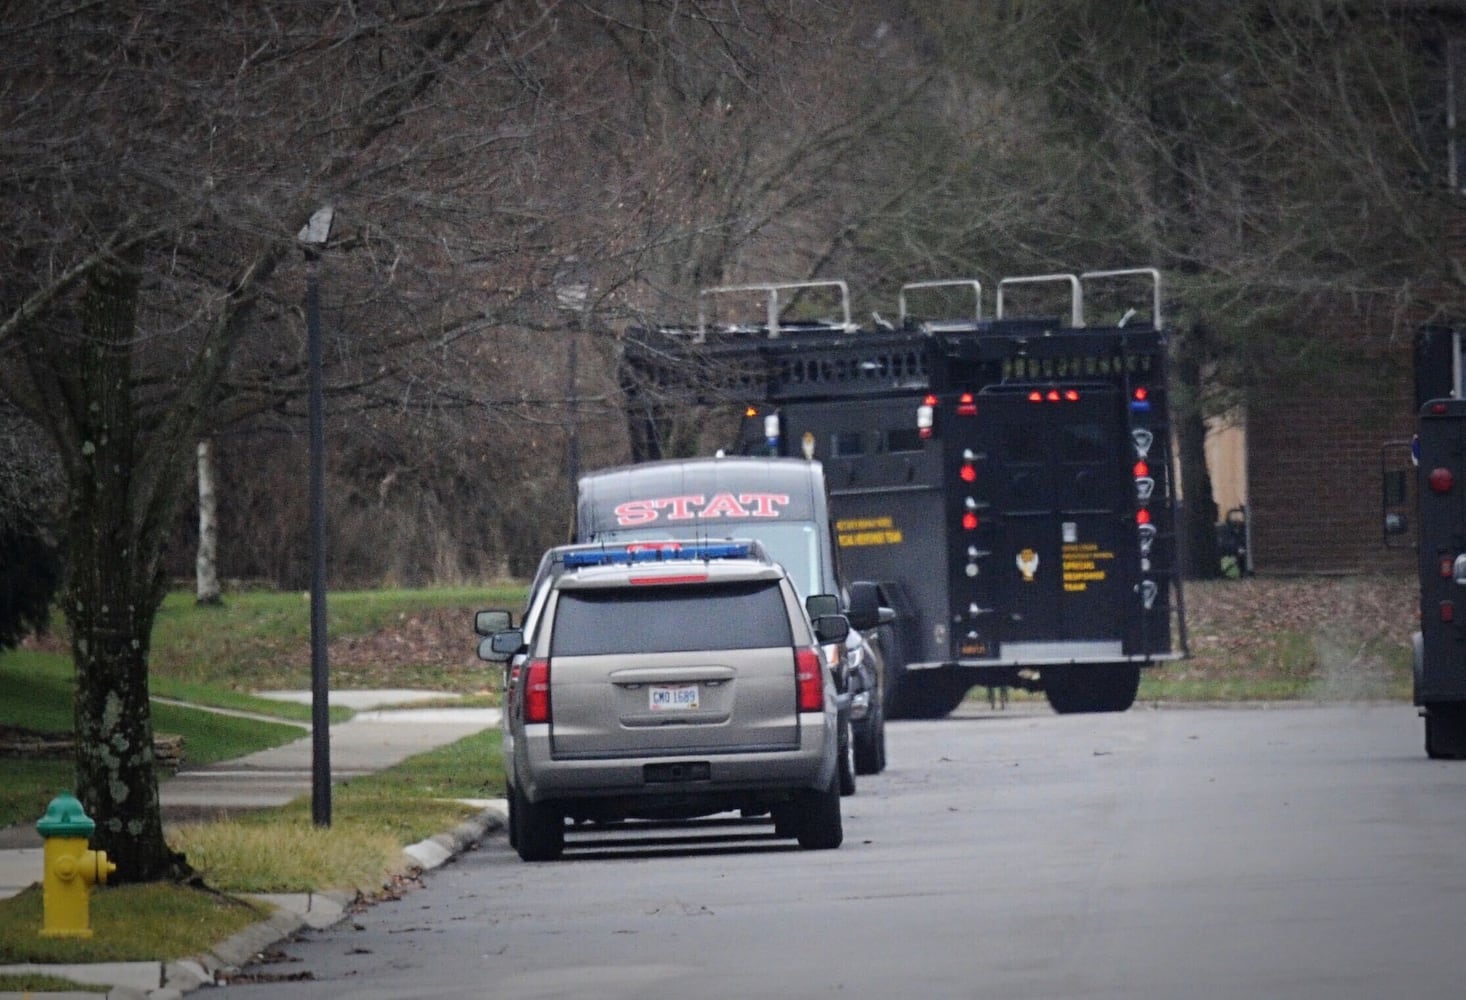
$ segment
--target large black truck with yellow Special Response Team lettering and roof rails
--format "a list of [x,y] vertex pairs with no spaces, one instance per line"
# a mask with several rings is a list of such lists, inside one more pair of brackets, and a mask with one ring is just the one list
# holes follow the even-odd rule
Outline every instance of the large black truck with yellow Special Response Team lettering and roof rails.
[[[1086,324],[1086,293],[1141,283]],[[1007,315],[1032,286],[1069,314]],[[710,318],[733,296],[758,318]],[[843,572],[894,611],[890,716],[946,716],[973,686],[1127,710],[1142,669],[1186,655],[1160,273],[1003,279],[992,317],[975,280],[906,284],[865,327],[849,302],[843,282],[726,286],[696,326],[629,330],[633,460],[664,457],[670,413],[736,403],[732,450],[822,462]]]

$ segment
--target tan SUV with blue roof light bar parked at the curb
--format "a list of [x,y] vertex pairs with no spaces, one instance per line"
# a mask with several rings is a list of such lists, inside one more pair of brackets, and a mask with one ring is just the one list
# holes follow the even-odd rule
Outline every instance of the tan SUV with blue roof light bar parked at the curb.
[[567,545],[531,633],[475,619],[479,655],[509,661],[510,842],[564,849],[566,821],[771,814],[802,848],[843,839],[837,704],[811,622],[756,543]]

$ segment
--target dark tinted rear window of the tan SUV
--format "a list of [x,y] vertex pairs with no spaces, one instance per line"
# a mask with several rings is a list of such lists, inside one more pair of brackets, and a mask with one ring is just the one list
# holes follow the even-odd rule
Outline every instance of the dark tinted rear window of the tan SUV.
[[778,581],[561,591],[551,657],[793,645]]

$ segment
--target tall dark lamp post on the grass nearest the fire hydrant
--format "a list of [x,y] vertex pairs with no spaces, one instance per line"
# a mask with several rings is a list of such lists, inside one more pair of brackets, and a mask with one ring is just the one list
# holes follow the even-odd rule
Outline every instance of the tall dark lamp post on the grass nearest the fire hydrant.
[[331,714],[325,652],[325,393],[321,387],[321,249],[331,236],[330,205],[298,236],[305,251],[305,327],[311,411],[311,820],[331,826]]

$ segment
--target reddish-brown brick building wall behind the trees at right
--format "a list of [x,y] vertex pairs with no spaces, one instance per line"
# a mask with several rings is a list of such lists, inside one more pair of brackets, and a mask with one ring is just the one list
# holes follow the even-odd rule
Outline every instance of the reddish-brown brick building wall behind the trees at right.
[[1248,512],[1258,573],[1410,572],[1382,540],[1381,446],[1413,434],[1410,345],[1264,387],[1248,411]]

